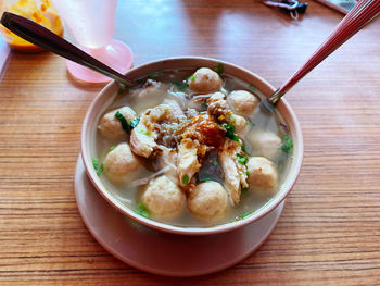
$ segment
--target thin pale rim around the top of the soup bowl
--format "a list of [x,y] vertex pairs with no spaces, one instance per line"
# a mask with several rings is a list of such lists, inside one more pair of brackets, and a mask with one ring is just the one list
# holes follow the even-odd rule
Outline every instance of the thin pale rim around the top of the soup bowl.
[[[165,58],[165,59],[151,61],[151,62],[144,63],[142,65],[136,66],[136,67],[129,70],[126,74],[136,72],[138,70],[144,70],[147,66],[149,67],[151,65],[160,64],[162,62],[172,62],[172,61],[180,61],[180,60],[185,60],[185,61],[200,60],[200,61],[206,61],[206,62],[213,63],[213,64],[217,64],[218,62],[220,62],[224,66],[229,66],[231,69],[240,70],[240,72],[249,74],[250,76],[252,76],[256,80],[261,82],[264,86],[269,88],[271,90],[271,92],[275,91],[275,88],[267,80],[265,80],[261,76],[250,72],[249,70],[245,70],[241,66],[238,66],[236,64],[232,64],[232,63],[229,63],[226,61],[220,61],[217,59],[205,58],[205,57]],[[149,73],[144,73],[144,75],[147,75],[147,74],[149,74]],[[293,125],[292,132],[291,132],[293,142],[294,142],[293,151],[296,150],[296,152],[293,152],[293,154],[294,154],[293,156],[293,163],[292,163],[293,172],[292,173],[289,172],[288,177],[286,179],[286,182],[288,182],[288,186],[287,186],[286,190],[279,190],[270,199],[269,202],[267,202],[259,210],[255,211],[254,213],[252,213],[250,216],[248,216],[244,220],[240,220],[240,221],[236,221],[236,222],[228,222],[228,223],[218,224],[218,225],[210,226],[210,227],[180,227],[180,226],[175,226],[175,225],[157,222],[154,220],[150,220],[150,219],[147,219],[142,215],[135,213],[134,210],[131,210],[127,206],[121,203],[115,197],[113,197],[111,194],[109,194],[107,191],[104,191],[102,189],[101,181],[92,166],[92,160],[91,160],[92,157],[89,153],[90,148],[88,148],[89,145],[87,144],[87,136],[86,135],[90,132],[88,126],[89,126],[89,119],[90,119],[90,115],[92,113],[92,110],[97,105],[97,102],[102,97],[104,97],[103,95],[106,94],[107,89],[112,88],[114,85],[118,85],[118,84],[115,80],[112,80],[92,100],[92,102],[91,102],[91,104],[86,113],[84,123],[83,123],[81,134],[80,134],[80,148],[81,148],[81,159],[84,161],[84,165],[85,165],[87,175],[90,178],[91,183],[93,184],[96,189],[99,191],[99,194],[112,207],[114,207],[115,209],[121,211],[123,214],[129,216],[130,219],[132,219],[132,220],[135,220],[135,221],[137,221],[145,226],[153,227],[155,229],[163,231],[163,232],[168,232],[168,233],[174,233],[174,234],[179,234],[179,235],[218,234],[218,233],[230,232],[230,231],[237,229],[238,227],[242,227],[242,226],[248,225],[256,220],[259,220],[264,215],[271,212],[281,201],[283,201],[286,199],[286,197],[288,196],[288,194],[290,192],[290,190],[293,188],[293,186],[296,182],[296,178],[300,174],[302,160],[303,160],[303,137],[302,137],[301,126],[300,126],[300,123],[296,119],[294,111],[292,110],[292,108],[290,107],[288,101],[284,98],[282,98],[278,103],[278,108],[288,113],[288,117],[286,119],[284,115],[282,114],[282,112],[280,112],[281,115],[284,117],[287,124],[289,125],[289,122],[291,122]],[[294,139],[296,139],[296,141],[294,141]]]

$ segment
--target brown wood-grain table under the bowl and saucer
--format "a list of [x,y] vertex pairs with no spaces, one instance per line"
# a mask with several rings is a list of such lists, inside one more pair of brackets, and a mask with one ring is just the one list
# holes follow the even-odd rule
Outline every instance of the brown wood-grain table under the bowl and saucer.
[[[342,15],[311,1],[289,16],[257,1],[119,1],[115,38],[135,65],[205,55],[279,86]],[[170,278],[115,259],[89,234],[74,197],[79,133],[102,86],[51,53],[12,53],[0,84],[1,285],[380,285],[380,21],[288,95],[304,163],[268,240],[220,273]]]

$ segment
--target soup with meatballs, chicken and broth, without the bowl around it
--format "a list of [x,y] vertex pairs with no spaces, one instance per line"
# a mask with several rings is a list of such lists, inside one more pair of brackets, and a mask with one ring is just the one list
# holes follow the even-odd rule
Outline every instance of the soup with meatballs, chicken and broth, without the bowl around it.
[[281,188],[292,140],[253,86],[214,71],[164,71],[121,89],[99,119],[94,167],[135,212],[176,226],[249,216]]

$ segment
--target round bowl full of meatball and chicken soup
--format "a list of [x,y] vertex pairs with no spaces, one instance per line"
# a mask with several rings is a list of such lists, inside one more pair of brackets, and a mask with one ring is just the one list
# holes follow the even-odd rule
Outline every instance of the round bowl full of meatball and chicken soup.
[[254,73],[208,58],[170,58],[130,70],[91,103],[81,158],[100,195],[155,229],[207,235],[273,211],[295,184],[299,121]]

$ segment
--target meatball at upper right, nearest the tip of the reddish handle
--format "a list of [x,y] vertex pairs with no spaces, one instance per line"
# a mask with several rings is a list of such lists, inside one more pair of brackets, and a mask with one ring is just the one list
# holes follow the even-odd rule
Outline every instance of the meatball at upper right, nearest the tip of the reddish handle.
[[235,90],[227,97],[228,104],[236,113],[248,116],[258,104],[258,99],[249,91]]

